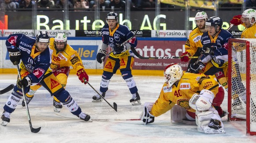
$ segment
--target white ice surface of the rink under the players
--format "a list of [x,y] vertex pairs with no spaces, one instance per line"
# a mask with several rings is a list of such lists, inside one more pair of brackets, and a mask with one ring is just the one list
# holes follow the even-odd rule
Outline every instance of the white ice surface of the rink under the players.
[[[15,74],[0,74],[0,89],[16,83]],[[66,90],[77,101],[82,111],[91,119],[111,121],[84,122],[72,115],[66,108],[53,111],[53,98],[43,87],[29,103],[33,128],[41,127],[39,133],[31,133],[26,108],[21,102],[11,114],[11,122],[0,126],[1,143],[256,143],[256,136],[247,136],[245,121],[227,122],[223,118],[225,134],[206,135],[197,131],[196,125],[172,124],[170,112],[155,118],[155,122],[144,125],[142,121],[114,121],[114,119],[139,119],[145,102],[157,100],[163,84],[163,77],[134,76],[142,105],[133,106],[132,98],[121,75],[114,75],[110,81],[106,100],[117,103],[117,112],[105,101],[91,102],[95,91],[80,83],[77,76],[70,75]],[[98,91],[100,75],[89,76],[89,83]],[[11,91],[0,95],[3,107]],[[227,110],[227,95],[222,105]],[[0,112],[2,112],[0,110]],[[57,114],[57,115],[56,115]],[[59,116],[61,115],[61,116]]]

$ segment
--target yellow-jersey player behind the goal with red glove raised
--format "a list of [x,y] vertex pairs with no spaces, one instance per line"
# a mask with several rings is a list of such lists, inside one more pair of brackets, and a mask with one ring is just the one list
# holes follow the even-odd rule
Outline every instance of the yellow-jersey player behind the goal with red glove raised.
[[242,31],[241,38],[256,38],[256,10],[247,9],[242,15],[236,15],[230,21],[231,24],[245,26],[245,30]]

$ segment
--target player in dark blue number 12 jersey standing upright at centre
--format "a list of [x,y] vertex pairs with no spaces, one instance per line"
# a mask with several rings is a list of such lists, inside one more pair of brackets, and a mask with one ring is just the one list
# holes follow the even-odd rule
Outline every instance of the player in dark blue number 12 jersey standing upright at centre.
[[[102,97],[105,97],[111,77],[116,73],[118,68],[120,68],[122,77],[126,81],[126,84],[132,94],[130,102],[132,105],[140,105],[141,102],[138,89],[132,77],[134,54],[130,50],[131,47],[137,46],[137,39],[136,37],[132,38],[133,33],[128,27],[118,24],[118,16],[116,12],[110,12],[107,14],[106,22],[107,24],[102,28],[102,47],[99,49],[96,59],[99,63],[102,63],[101,58],[106,56],[106,49],[108,47],[110,47],[113,52],[106,60],[99,94],[101,94]],[[129,38],[131,39],[124,43]],[[92,99],[93,102],[102,101],[102,98],[98,94],[93,96]]]

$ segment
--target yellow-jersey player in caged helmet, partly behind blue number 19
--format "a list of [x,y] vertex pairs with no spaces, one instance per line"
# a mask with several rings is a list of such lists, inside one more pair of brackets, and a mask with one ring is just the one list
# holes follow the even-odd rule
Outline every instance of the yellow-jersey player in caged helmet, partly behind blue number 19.
[[[86,84],[84,78],[88,81],[89,77],[84,70],[84,66],[79,54],[67,44],[67,37],[64,33],[58,33],[55,38],[50,38],[49,48],[52,50],[51,54],[51,69],[52,73],[57,77],[59,82],[65,88],[67,84],[67,78],[69,76],[70,66],[77,72],[79,80]],[[35,92],[41,85],[31,86],[29,92],[26,94],[26,102],[32,100]],[[22,106],[25,106],[25,102],[22,101]],[[54,97],[53,106],[55,112],[60,112],[62,105],[60,101]]]

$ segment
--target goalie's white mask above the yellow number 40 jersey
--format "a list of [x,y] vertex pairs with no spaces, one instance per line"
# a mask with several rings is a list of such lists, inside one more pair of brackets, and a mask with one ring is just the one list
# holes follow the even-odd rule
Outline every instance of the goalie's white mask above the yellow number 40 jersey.
[[182,75],[183,70],[177,63],[171,63],[165,67],[164,77],[168,87],[171,87],[172,84],[180,80]]

